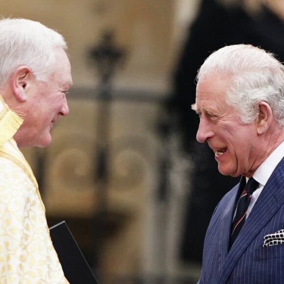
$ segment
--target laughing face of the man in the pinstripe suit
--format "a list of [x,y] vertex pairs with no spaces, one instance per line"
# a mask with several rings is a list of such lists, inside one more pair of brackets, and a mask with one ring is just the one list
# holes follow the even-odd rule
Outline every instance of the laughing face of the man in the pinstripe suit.
[[220,173],[251,176],[260,164],[257,125],[242,124],[225,102],[230,82],[229,76],[211,75],[197,83],[192,106],[200,116],[196,139],[213,149]]

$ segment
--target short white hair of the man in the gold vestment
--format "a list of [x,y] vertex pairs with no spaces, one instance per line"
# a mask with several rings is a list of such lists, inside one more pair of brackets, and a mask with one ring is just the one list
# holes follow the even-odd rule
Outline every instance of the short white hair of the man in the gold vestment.
[[54,71],[55,48],[67,50],[57,31],[27,19],[0,20],[0,86],[19,66],[26,65],[39,81]]

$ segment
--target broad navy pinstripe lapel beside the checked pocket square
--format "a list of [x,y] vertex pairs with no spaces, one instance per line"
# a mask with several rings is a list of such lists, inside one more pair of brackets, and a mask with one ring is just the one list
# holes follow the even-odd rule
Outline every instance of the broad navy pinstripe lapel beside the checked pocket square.
[[229,251],[224,261],[223,271],[220,276],[220,283],[225,283],[228,280],[237,264],[237,261],[247,249],[249,244],[284,203],[283,178],[284,159],[282,159],[268,179],[235,243]]

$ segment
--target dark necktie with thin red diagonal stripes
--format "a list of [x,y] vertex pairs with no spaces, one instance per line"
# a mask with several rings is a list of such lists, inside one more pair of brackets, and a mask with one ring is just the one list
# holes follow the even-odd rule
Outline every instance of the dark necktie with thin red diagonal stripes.
[[241,188],[244,188],[244,189],[241,192],[241,195],[237,202],[236,216],[233,220],[232,227],[231,227],[231,237],[230,237],[229,249],[231,248],[234,241],[236,240],[237,235],[240,232],[245,222],[246,212],[247,212],[252,194],[259,186],[259,183],[253,178],[250,178],[247,184],[245,183],[246,183],[246,179],[244,176],[242,176],[240,183],[239,183],[239,190],[241,190]]

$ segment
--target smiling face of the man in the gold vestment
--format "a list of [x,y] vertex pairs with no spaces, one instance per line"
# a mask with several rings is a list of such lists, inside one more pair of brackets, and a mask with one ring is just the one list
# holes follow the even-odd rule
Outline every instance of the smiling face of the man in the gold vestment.
[[24,123],[14,136],[19,147],[46,147],[51,142],[50,130],[59,116],[67,116],[66,92],[72,84],[71,66],[66,52],[56,50],[55,71],[46,82],[33,75],[24,85],[26,99],[21,111]]

